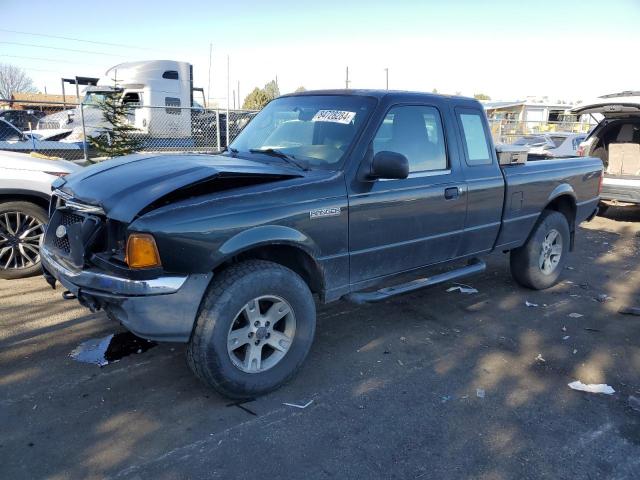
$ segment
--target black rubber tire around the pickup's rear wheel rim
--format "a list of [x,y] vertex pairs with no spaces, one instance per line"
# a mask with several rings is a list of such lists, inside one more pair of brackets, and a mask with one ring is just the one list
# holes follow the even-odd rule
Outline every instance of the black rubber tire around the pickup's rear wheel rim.
[[[553,269],[545,272],[540,266],[543,244],[547,235],[558,232],[562,242],[560,256]],[[564,270],[569,253],[571,232],[569,222],[562,213],[545,210],[534,227],[529,240],[522,247],[511,250],[511,275],[523,287],[544,290],[555,285]],[[551,260],[550,260],[551,261]],[[553,257],[555,262],[555,256]],[[545,264],[546,265],[546,264]]]

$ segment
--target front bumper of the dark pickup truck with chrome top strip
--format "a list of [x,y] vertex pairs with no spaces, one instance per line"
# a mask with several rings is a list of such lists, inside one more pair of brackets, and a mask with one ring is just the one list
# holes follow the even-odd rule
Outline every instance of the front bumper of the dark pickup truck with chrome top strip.
[[97,269],[77,270],[46,246],[40,249],[49,283],[59,281],[92,310],[104,309],[128,330],[148,340],[187,342],[213,274],[166,275],[133,280]]

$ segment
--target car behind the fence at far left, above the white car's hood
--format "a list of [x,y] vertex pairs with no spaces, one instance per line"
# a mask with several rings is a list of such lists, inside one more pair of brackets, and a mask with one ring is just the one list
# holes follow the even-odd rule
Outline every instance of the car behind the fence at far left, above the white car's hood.
[[45,155],[64,157],[70,160],[83,157],[79,143],[58,142],[44,137],[37,130],[21,132],[15,126],[0,119],[0,150],[12,152],[40,152]]

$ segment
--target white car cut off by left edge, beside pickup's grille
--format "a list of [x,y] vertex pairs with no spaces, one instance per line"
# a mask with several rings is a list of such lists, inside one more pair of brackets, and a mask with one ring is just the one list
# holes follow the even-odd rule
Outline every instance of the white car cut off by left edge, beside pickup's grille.
[[40,272],[51,182],[81,168],[66,160],[0,151],[0,278]]

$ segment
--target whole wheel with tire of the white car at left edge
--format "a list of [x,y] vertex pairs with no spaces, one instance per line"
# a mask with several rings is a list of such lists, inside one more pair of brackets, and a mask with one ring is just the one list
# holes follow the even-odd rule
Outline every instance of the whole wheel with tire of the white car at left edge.
[[40,244],[47,221],[47,212],[34,203],[0,203],[0,278],[40,273]]

